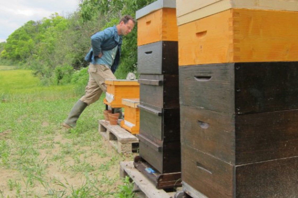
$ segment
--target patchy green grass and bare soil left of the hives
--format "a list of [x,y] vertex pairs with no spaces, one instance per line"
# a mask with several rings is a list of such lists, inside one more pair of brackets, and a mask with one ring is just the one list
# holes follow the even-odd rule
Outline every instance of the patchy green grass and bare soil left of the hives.
[[29,70],[0,70],[0,198],[133,197],[118,174],[133,155],[117,153],[98,133],[103,96],[75,129],[61,127],[80,98],[72,87],[42,87]]

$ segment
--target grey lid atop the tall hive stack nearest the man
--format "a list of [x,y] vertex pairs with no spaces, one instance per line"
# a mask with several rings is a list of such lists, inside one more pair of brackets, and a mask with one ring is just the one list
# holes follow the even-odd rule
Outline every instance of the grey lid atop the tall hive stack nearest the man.
[[157,0],[146,7],[136,11],[136,19],[162,8],[176,8],[176,0]]

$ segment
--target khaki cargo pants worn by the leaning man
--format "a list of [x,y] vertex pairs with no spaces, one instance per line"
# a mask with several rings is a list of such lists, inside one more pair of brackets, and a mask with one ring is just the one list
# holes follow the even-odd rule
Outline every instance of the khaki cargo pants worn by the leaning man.
[[105,80],[116,79],[116,77],[105,65],[93,65],[90,63],[88,73],[89,81],[85,88],[85,95],[80,100],[89,106],[96,102],[103,92],[107,91]]

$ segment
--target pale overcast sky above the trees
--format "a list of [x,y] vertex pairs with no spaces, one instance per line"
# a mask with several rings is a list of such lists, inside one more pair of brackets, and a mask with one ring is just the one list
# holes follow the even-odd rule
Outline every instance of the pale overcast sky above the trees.
[[52,13],[72,13],[80,0],[0,0],[0,42],[27,21],[48,18]]

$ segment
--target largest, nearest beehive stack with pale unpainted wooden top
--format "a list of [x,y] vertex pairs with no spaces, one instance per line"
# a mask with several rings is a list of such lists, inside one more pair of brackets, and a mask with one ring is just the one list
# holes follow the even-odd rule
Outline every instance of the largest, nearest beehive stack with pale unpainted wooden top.
[[298,1],[177,0],[184,191],[298,195]]

